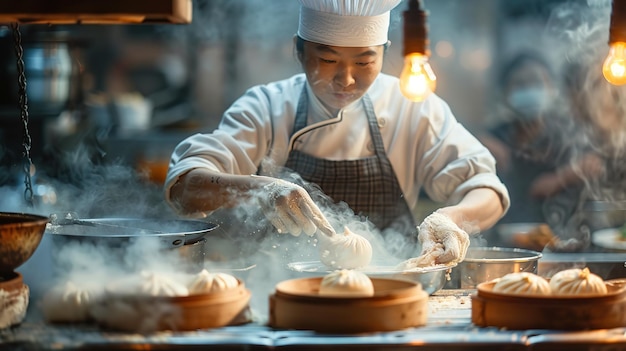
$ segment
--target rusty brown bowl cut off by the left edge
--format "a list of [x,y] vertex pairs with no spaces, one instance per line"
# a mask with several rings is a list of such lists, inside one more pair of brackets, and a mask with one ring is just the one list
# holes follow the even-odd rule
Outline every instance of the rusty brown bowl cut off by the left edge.
[[0,212],[0,280],[33,255],[47,223],[44,216]]

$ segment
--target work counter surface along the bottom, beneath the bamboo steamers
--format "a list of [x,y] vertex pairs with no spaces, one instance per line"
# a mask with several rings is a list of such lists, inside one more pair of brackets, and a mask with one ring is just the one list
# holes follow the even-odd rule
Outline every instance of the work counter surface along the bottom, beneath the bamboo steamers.
[[428,324],[395,332],[329,335],[242,326],[152,335],[92,325],[49,325],[27,317],[0,330],[0,350],[626,350],[626,328],[563,332],[478,328],[471,323],[474,290],[441,290],[429,298]]

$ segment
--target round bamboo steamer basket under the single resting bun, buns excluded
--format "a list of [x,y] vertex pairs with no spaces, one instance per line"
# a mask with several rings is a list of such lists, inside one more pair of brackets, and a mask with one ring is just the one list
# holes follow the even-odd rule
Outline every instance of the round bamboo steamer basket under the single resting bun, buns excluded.
[[269,325],[325,333],[393,331],[426,324],[428,294],[418,283],[371,278],[374,296],[320,296],[323,277],[280,282],[270,296]]

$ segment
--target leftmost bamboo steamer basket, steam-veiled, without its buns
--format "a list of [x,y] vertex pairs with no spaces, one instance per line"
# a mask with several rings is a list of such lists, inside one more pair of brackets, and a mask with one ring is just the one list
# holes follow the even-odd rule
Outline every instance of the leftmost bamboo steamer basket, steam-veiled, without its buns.
[[192,331],[250,322],[251,293],[243,281],[232,289],[176,297],[110,295],[98,304],[96,321],[119,331]]

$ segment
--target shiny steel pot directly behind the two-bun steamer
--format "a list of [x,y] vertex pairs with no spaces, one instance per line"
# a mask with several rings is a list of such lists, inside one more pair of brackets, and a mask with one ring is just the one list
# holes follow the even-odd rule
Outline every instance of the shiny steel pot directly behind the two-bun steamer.
[[542,254],[533,250],[504,247],[470,247],[465,260],[458,265],[453,279],[461,289],[474,289],[482,282],[500,278],[508,273],[537,273]]

